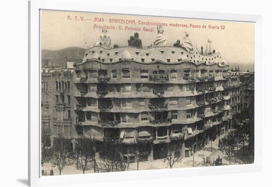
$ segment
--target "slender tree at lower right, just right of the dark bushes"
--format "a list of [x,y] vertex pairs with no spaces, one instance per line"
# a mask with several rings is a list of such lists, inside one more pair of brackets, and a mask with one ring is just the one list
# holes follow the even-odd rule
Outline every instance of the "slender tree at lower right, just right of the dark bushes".
[[228,133],[224,138],[219,140],[219,150],[226,153],[229,158],[229,165],[231,165],[231,158],[234,156],[235,136],[233,132]]

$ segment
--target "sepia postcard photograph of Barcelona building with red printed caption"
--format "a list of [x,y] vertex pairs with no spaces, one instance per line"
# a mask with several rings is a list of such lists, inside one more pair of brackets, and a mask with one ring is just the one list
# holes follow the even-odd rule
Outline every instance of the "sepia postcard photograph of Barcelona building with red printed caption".
[[254,163],[255,24],[40,10],[41,176]]

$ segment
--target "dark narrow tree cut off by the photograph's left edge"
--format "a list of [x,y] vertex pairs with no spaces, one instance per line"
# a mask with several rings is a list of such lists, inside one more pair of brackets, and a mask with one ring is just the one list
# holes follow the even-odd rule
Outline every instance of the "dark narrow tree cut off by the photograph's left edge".
[[42,129],[42,152],[41,152],[41,165],[43,166],[45,162],[48,162],[51,157],[51,150],[50,150],[50,137],[51,137],[51,130],[49,128]]

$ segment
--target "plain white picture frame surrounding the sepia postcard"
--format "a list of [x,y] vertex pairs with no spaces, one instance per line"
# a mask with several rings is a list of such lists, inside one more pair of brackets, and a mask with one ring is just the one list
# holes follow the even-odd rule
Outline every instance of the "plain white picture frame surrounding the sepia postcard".
[[[255,161],[250,165],[232,165],[221,167],[197,167],[164,170],[145,170],[130,172],[95,173],[66,176],[41,177],[40,168],[40,81],[41,81],[41,44],[40,9],[101,12],[116,14],[134,14],[146,16],[179,17],[187,19],[207,19],[234,22],[255,23]],[[172,178],[199,175],[215,175],[261,171],[262,166],[262,121],[261,121],[261,39],[262,17],[259,15],[227,14],[214,12],[194,12],[169,9],[153,9],[92,4],[88,0],[29,1],[29,128],[28,128],[28,185],[73,185],[124,180],[146,180],[154,178]],[[38,63],[39,62],[39,63]],[[258,122],[258,123],[257,123]]]

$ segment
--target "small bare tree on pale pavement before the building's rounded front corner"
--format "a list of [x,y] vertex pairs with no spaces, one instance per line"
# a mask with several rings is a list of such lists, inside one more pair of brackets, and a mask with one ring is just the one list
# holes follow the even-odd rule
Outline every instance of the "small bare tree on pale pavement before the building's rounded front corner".
[[181,162],[181,156],[175,154],[175,149],[172,144],[167,144],[165,147],[163,147],[160,154],[164,158],[162,161],[166,162],[167,166],[169,166],[171,169],[173,168],[174,164]]

